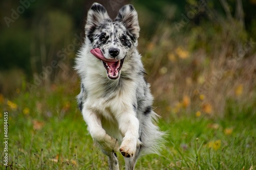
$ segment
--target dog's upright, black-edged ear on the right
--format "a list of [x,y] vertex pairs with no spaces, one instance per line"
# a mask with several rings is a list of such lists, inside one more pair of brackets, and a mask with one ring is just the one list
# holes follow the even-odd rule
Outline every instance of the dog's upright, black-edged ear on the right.
[[139,21],[138,14],[132,5],[123,6],[115,18],[115,21],[122,22],[127,30],[130,32],[130,37],[134,42],[139,38]]

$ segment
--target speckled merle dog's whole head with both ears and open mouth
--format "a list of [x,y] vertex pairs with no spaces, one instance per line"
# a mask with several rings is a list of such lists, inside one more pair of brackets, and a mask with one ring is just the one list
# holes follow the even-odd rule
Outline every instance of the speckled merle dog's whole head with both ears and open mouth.
[[102,61],[110,79],[118,79],[125,57],[137,46],[139,23],[134,7],[123,6],[112,21],[105,8],[94,3],[88,11],[85,31],[91,53]]

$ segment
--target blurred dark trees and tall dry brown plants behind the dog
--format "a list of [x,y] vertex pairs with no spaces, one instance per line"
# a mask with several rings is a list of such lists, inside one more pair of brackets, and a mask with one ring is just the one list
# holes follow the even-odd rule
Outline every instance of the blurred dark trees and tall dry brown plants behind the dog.
[[[2,98],[63,84],[77,94],[74,58],[93,2],[1,1]],[[112,18],[124,4],[138,11],[138,48],[159,114],[222,115],[230,100],[255,106],[255,0],[97,2]]]

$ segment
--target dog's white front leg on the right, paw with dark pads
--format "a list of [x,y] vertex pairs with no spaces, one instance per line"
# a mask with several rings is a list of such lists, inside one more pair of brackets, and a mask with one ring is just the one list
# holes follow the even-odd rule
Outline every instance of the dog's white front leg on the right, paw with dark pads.
[[135,154],[139,141],[139,120],[134,112],[122,113],[118,119],[119,129],[122,133],[123,141],[120,152],[124,157],[131,157]]

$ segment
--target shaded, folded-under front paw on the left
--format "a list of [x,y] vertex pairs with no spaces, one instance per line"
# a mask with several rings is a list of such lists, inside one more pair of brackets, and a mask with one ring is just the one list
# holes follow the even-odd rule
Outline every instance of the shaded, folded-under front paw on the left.
[[106,134],[102,140],[98,140],[97,143],[105,151],[118,152],[119,144],[117,139]]

